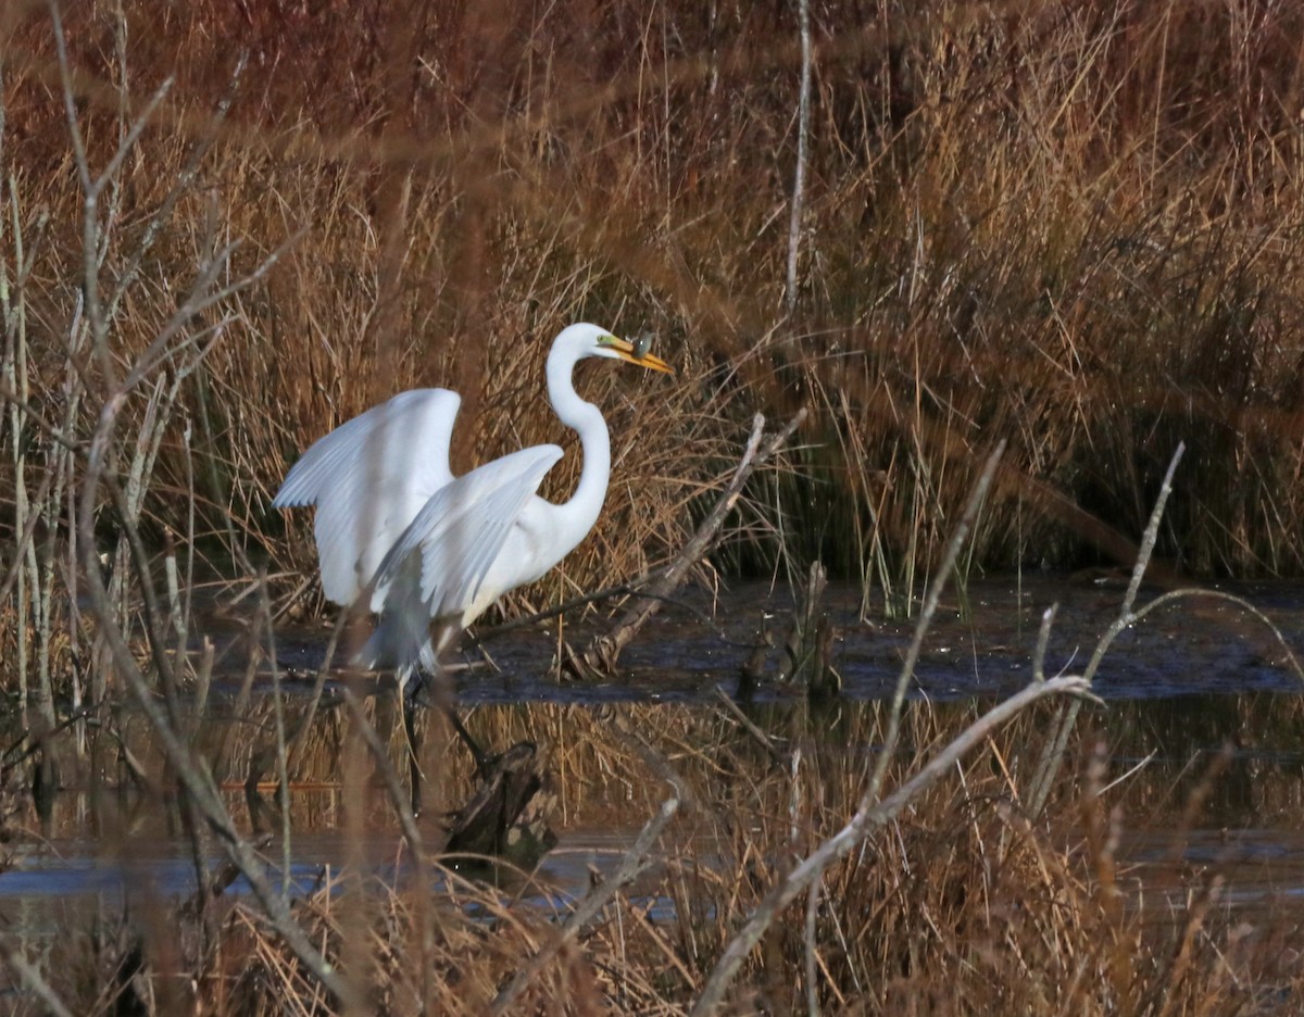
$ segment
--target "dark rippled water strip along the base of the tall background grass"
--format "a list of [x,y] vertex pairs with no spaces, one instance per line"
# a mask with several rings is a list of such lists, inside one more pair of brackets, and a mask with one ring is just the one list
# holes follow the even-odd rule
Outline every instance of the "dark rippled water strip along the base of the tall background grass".
[[[1304,584],[1260,583],[1210,587],[1241,597],[1265,613],[1292,648],[1304,653]],[[1137,606],[1161,593],[1142,588]],[[1042,614],[1058,608],[1047,647],[1047,674],[1081,673],[1097,641],[1118,618],[1124,582],[1067,576],[974,580],[962,595],[949,592],[928,630],[911,695],[968,699],[1004,695],[1029,679]],[[891,698],[914,635],[915,618],[884,621],[882,605],[862,619],[861,593],[831,585],[824,606],[836,630],[833,666],[852,699]],[[763,643],[764,631],[781,644],[793,601],[760,583],[734,585],[708,598],[700,592],[664,604],[621,662],[619,681],[608,685],[559,681],[552,668],[556,622],[494,638],[482,652],[462,657],[468,670],[456,679],[459,701],[711,701],[715,688],[733,691],[739,668]],[[481,630],[485,632],[486,630]],[[567,625],[565,638],[584,645],[592,622]],[[319,628],[282,628],[278,656],[289,668],[312,671],[322,662]],[[776,664],[780,651],[769,655]],[[1271,631],[1243,608],[1211,596],[1183,598],[1131,626],[1114,643],[1098,671],[1095,692],[1104,699],[1162,699],[1198,694],[1304,691]],[[789,690],[762,685],[759,698]]]

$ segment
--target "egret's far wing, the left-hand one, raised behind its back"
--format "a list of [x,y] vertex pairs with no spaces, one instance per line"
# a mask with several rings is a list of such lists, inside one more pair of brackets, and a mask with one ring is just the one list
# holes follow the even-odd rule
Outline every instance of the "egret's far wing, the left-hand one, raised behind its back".
[[452,480],[449,446],[462,399],[415,389],[319,438],[273,506],[316,505],[322,591],[349,605],[430,497]]

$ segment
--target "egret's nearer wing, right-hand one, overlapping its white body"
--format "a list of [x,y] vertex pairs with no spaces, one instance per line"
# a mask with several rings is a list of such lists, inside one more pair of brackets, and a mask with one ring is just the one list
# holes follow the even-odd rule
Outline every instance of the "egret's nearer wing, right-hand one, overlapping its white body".
[[[556,445],[522,449],[439,488],[382,562],[372,610],[382,610],[403,562],[420,552],[421,600],[430,617],[460,622],[544,475],[561,458]],[[507,588],[488,592],[497,596]]]

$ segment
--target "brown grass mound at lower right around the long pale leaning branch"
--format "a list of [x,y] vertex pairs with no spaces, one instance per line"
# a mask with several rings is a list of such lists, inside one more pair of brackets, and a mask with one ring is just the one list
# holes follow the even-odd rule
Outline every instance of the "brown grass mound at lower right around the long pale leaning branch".
[[[910,755],[926,758],[935,734],[969,718],[915,718]],[[947,788],[831,868],[815,902],[802,894],[745,966],[730,1012],[801,1010],[812,975],[833,1013],[1241,1012],[1271,954],[1218,913],[1217,876],[1196,877],[1187,905],[1155,921],[1137,906],[1145,879],[1119,871],[1119,820],[1090,778],[1073,793],[1081,825],[1022,818],[1011,771],[1031,765],[1037,725],[1003,731]],[[715,836],[681,846],[659,888],[677,902],[692,888],[691,910],[672,926],[681,956],[709,967],[738,915],[841,827],[863,778],[844,738],[866,744],[874,734],[872,711],[844,717],[832,739],[803,739],[799,763],[771,768],[747,806],[708,799],[703,821]]]

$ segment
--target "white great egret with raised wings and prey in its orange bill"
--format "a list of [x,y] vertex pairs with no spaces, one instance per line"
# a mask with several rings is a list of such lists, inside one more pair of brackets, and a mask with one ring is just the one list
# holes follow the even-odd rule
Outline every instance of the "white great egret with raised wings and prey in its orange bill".
[[[498,597],[542,576],[597,522],[612,471],[601,411],[575,392],[571,370],[610,357],[673,374],[647,352],[596,325],[571,325],[548,353],[548,398],[579,433],[584,467],[562,505],[540,498],[556,445],[522,449],[469,473],[449,468],[462,399],[447,389],[395,395],[319,438],[295,463],[273,505],[317,506],[322,589],[335,604],[366,597],[379,625],[357,655],[365,668],[434,671],[462,628]],[[430,638],[430,623],[436,636]]]

